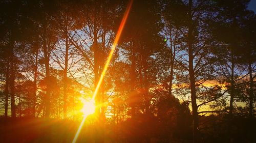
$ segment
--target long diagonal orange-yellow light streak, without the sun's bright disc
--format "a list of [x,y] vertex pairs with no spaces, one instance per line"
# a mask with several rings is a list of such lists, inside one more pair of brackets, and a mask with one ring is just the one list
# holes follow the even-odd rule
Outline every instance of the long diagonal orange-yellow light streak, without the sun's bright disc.
[[[97,93],[98,93],[98,91],[99,91],[99,88],[100,88],[101,82],[102,82],[102,80],[103,80],[103,78],[104,78],[104,75],[105,75],[105,73],[106,73],[106,70],[108,70],[110,61],[111,61],[112,56],[113,56],[113,53],[114,53],[114,51],[115,51],[115,49],[116,49],[117,43],[118,43],[118,41],[119,41],[119,39],[120,39],[120,36],[121,36],[122,30],[123,30],[124,24],[125,24],[125,22],[126,22],[126,19],[127,19],[128,15],[129,15],[129,13],[130,13],[132,4],[133,4],[133,0],[130,0],[129,4],[127,5],[127,8],[126,8],[126,10],[125,10],[125,13],[124,13],[124,15],[123,15],[123,19],[122,19],[122,21],[121,21],[121,23],[120,23],[120,26],[119,26],[119,28],[118,28],[118,31],[117,31],[117,34],[116,34],[116,38],[115,38],[115,41],[114,41],[114,43],[113,43],[113,45],[112,45],[112,48],[111,48],[111,50],[110,50],[108,59],[106,60],[106,63],[105,63],[104,68],[103,68],[103,71],[102,71],[102,73],[101,73],[101,75],[100,75],[99,81],[98,81],[97,86],[96,86],[96,88],[95,88],[95,91],[94,91],[94,93],[93,93],[93,97],[92,97],[90,103],[93,103],[94,106],[95,106],[95,102],[94,102],[94,101],[95,101],[95,97],[96,97],[96,95],[97,95]],[[86,121],[86,118],[87,118],[88,116],[89,116],[89,115],[84,115],[84,117],[83,117],[83,119],[82,119],[82,122],[81,122],[81,124],[80,124],[80,126],[79,126],[79,128],[78,128],[78,130],[77,130],[77,132],[76,132],[76,135],[75,135],[75,137],[74,137],[72,143],[75,143],[75,142],[76,142],[76,140],[77,140],[77,138],[78,138],[78,136],[79,136],[79,133],[81,132],[81,129],[82,129],[82,127],[83,127],[83,124],[84,124],[84,122]]]

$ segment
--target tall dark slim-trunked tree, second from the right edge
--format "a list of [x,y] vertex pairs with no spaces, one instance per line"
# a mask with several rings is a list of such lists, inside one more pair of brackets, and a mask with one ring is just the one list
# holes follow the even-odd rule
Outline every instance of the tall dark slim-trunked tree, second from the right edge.
[[[213,35],[222,42],[224,50],[218,51],[219,58],[226,59],[222,63],[222,75],[230,83],[228,92],[230,94],[229,115],[233,116],[233,102],[236,95],[236,82],[241,79],[243,68],[239,64],[238,52],[242,37],[242,19],[248,14],[246,5],[248,1],[216,1],[217,15],[214,25],[211,27]],[[221,56],[222,55],[222,56]],[[224,62],[224,60],[222,61]],[[238,71],[241,70],[241,71]],[[240,75],[239,75],[240,74]]]

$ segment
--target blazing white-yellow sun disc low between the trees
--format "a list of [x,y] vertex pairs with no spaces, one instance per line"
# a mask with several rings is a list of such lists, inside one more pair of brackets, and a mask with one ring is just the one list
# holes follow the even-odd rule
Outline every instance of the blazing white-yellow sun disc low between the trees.
[[85,100],[81,98],[81,102],[83,103],[83,107],[80,110],[84,116],[89,116],[95,112],[95,101],[94,100]]

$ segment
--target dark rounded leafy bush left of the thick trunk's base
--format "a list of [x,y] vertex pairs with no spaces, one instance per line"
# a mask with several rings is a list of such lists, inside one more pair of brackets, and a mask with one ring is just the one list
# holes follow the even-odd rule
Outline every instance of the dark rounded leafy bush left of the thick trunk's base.
[[[192,118],[188,103],[174,96],[168,90],[158,88],[154,91],[153,113],[160,123],[159,138],[161,142],[170,142],[172,139],[190,139],[192,137]],[[166,137],[165,137],[166,136]]]

